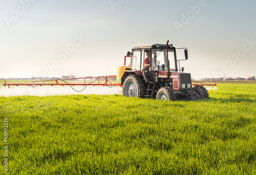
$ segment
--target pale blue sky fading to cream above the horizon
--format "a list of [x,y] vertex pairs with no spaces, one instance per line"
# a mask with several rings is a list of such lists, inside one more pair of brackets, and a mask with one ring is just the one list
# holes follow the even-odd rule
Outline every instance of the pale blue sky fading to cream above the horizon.
[[131,48],[167,40],[188,48],[181,65],[193,78],[247,78],[256,75],[255,7],[231,0],[0,0],[0,78],[115,75]]

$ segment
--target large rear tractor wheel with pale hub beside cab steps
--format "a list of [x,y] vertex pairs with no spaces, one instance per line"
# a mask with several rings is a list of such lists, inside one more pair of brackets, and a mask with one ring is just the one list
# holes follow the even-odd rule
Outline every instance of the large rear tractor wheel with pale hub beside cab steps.
[[145,92],[145,85],[142,79],[137,75],[132,74],[125,78],[123,83],[123,96],[143,98]]

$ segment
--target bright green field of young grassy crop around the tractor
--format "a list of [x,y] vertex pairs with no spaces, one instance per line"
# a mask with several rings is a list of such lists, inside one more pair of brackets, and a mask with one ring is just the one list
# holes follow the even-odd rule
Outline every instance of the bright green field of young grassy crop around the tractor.
[[199,101],[0,94],[1,172],[256,174],[256,84],[208,92]]

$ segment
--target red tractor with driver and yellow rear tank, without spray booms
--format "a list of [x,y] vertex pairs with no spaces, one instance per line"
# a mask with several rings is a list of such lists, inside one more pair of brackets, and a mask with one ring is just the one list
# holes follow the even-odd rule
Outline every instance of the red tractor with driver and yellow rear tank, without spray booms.
[[[209,99],[207,90],[202,85],[192,86],[191,75],[180,69],[176,50],[168,45],[136,46],[127,56],[131,57],[130,66],[118,67],[117,82],[123,85],[126,97],[156,98],[159,100],[196,100]],[[179,68],[178,68],[179,63]]]

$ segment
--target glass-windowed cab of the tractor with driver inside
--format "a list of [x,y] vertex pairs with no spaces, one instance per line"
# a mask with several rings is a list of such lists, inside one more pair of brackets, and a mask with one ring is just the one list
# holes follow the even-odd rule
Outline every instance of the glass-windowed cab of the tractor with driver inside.
[[[186,49],[186,48],[181,48]],[[187,50],[185,50],[187,51]],[[187,59],[187,52],[185,52]],[[127,56],[131,57],[130,68],[126,68],[124,75],[132,72],[142,75],[146,83],[158,83],[159,78],[167,78],[170,71],[181,71],[177,67],[176,48],[170,45],[142,45],[136,46]],[[121,84],[124,81],[121,80]]]

